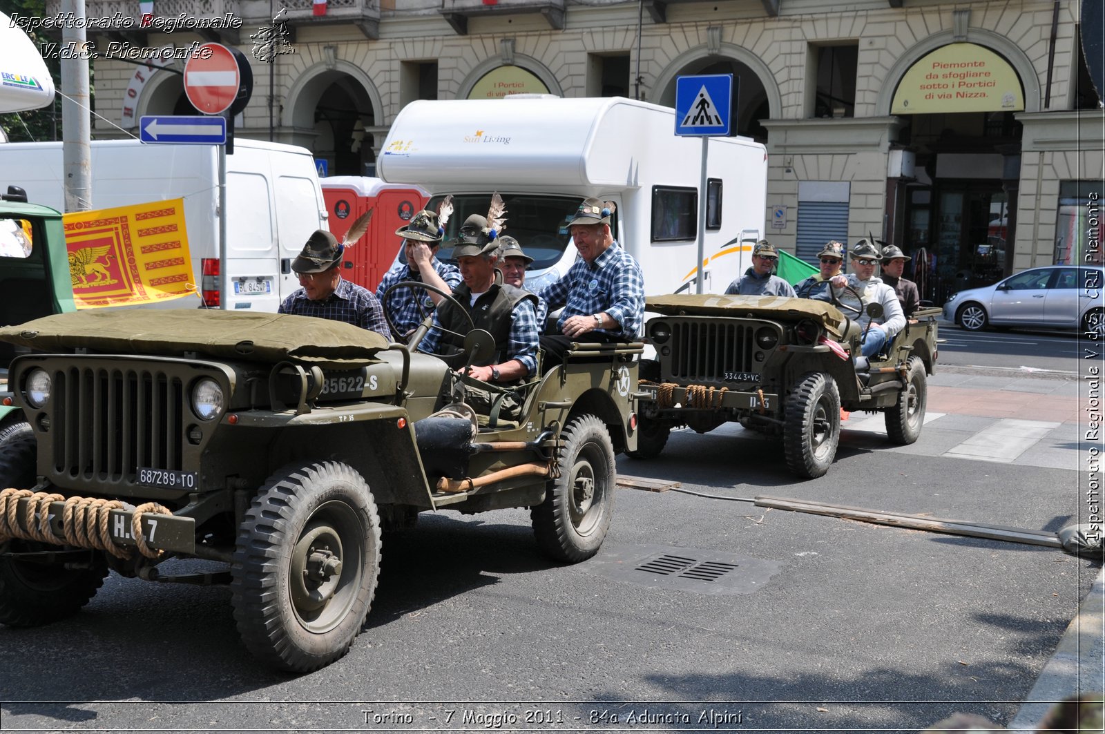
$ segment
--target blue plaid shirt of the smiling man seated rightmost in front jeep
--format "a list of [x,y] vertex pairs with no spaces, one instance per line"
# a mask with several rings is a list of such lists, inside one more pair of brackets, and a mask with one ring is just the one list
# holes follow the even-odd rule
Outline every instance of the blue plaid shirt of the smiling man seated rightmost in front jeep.
[[620,327],[596,331],[633,339],[644,321],[644,275],[633,255],[617,240],[593,263],[577,258],[564,277],[541,290],[540,297],[548,308],[564,306],[557,321],[561,331],[569,316],[606,313]]

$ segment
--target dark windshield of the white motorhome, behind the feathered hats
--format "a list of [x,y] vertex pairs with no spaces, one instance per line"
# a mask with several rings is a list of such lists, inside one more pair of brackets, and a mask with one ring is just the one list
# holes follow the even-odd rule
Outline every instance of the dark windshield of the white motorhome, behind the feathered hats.
[[[534,259],[528,270],[546,270],[557,264],[571,241],[567,222],[579,209],[579,202],[583,197],[502,192],[499,195],[506,205],[506,227],[503,234],[509,234],[517,240],[526,254]],[[445,223],[445,238],[438,252],[439,259],[452,261],[453,245],[461,234],[461,224],[472,214],[486,217],[491,196],[491,191],[453,196],[453,213]],[[438,211],[442,198],[443,196],[434,196],[427,205],[427,209]],[[611,230],[617,239],[617,223],[611,226]],[[399,251],[399,262],[407,262],[406,248]]]

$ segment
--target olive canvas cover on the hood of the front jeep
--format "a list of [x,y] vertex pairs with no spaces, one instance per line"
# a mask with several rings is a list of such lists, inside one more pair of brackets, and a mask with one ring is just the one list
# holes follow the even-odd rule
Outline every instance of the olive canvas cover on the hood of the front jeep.
[[219,359],[347,368],[375,361],[376,353],[388,346],[376,332],[327,318],[183,308],[55,314],[0,328],[0,342],[35,352],[85,348],[95,354],[166,357],[194,352]]

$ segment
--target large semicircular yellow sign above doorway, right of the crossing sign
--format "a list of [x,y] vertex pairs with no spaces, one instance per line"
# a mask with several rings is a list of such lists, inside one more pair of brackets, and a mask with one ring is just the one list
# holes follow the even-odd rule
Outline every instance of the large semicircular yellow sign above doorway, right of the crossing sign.
[[891,103],[892,115],[1022,109],[1017,72],[975,43],[951,43],[922,56],[902,76]]

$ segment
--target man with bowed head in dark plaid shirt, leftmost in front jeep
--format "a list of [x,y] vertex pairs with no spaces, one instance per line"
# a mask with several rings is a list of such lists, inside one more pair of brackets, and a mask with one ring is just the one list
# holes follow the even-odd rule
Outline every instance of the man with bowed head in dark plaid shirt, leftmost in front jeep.
[[341,277],[345,248],[326,230],[315,230],[303,252],[292,261],[299,289],[284,298],[277,313],[318,316],[356,324],[391,340],[380,302],[368,289]]

